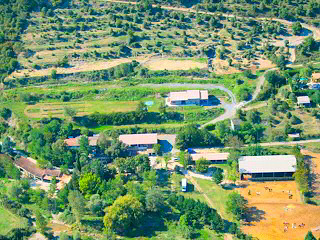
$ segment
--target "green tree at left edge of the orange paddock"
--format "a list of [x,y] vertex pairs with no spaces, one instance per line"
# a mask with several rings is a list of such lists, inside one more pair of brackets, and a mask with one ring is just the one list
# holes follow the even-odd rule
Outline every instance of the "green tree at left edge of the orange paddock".
[[226,210],[232,213],[237,220],[243,219],[246,216],[248,206],[248,201],[237,192],[232,192],[228,195],[228,200],[226,201]]

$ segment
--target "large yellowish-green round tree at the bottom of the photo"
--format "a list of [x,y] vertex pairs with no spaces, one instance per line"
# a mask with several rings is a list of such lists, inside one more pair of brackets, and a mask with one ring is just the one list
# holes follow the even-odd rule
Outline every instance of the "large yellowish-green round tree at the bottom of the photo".
[[138,226],[143,216],[143,205],[132,195],[125,195],[105,210],[103,222],[107,229],[125,233]]

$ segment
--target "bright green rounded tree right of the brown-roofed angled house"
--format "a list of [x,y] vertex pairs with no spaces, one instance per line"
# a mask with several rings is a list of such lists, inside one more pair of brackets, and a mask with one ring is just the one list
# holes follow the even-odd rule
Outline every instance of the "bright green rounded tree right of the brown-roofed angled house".
[[96,193],[101,184],[101,179],[94,173],[88,172],[83,174],[79,180],[80,191],[86,196],[90,197]]

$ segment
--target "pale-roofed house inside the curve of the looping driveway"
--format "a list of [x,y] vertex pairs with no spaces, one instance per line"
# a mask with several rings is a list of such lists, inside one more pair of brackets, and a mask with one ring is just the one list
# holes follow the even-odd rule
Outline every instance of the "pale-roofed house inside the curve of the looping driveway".
[[208,105],[207,90],[187,90],[183,92],[170,92],[167,104],[169,106]]

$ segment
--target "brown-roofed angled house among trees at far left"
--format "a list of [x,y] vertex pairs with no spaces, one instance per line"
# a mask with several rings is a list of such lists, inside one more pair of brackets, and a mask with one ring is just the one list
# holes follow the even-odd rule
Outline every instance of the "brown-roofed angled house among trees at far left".
[[48,177],[61,177],[60,169],[42,169],[37,166],[37,161],[32,158],[20,157],[14,161],[17,168],[26,176],[44,180]]

